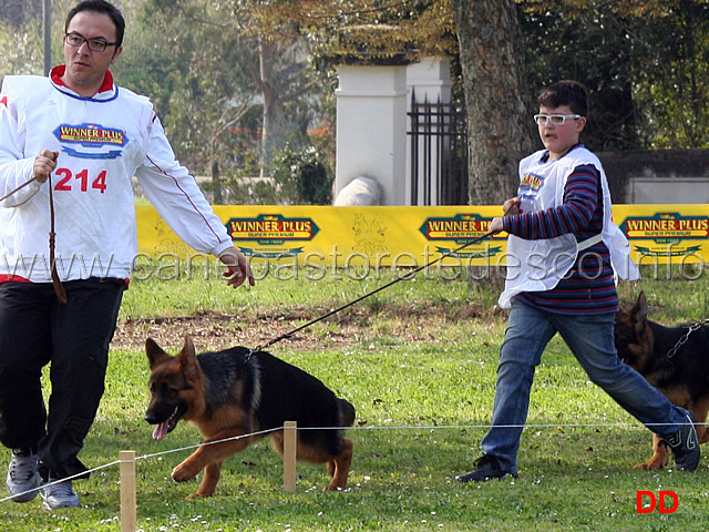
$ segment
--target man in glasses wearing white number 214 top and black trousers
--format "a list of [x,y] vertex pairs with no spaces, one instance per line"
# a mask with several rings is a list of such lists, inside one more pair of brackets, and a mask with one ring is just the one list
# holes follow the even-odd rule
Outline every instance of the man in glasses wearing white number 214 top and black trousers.
[[[6,76],[0,94],[0,197],[21,187],[0,202],[0,441],[13,450],[10,495],[32,500],[43,479],[49,509],[80,504],[63,479],[86,471],[78,453],[137,253],[132,177],[186,244],[225,264],[228,285],[254,285],[150,100],[114,84],[124,27],[111,3],[79,3],[66,18],[65,64],[48,78]],[[52,284],[50,201],[65,303]],[[47,409],[40,376],[50,362]]]

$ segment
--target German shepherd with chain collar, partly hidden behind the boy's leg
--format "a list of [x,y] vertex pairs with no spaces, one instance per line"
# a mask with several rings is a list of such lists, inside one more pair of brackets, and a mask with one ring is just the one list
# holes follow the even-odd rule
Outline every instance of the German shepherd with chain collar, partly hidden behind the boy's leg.
[[[675,405],[695,415],[697,437],[703,443],[709,441],[705,426],[709,410],[709,326],[689,334],[671,354],[688,330],[688,326],[664,327],[647,319],[647,300],[640,293],[628,313],[616,315],[615,342],[625,364]],[[653,458],[636,468],[661,469],[668,464],[670,451],[660,441],[657,434],[653,437]]]

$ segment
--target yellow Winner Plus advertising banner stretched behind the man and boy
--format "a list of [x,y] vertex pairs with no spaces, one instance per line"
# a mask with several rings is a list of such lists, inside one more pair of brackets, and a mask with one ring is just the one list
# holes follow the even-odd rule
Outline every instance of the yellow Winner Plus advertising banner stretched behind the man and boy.
[[[506,234],[483,237],[500,206],[215,206],[236,247],[253,262],[319,269],[505,264]],[[140,253],[186,257],[150,206],[136,207]],[[638,264],[709,260],[709,205],[615,205],[614,219]],[[471,242],[473,242],[471,244]]]

